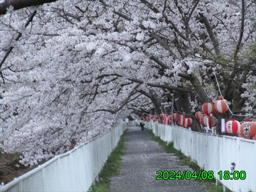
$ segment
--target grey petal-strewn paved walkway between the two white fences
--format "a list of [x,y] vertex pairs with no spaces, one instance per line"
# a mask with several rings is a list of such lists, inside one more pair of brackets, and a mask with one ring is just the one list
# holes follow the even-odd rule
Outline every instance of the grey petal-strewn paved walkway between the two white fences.
[[147,131],[131,126],[125,133],[121,170],[111,178],[110,191],[206,191],[195,180],[156,180],[156,171],[192,171],[167,154]]

